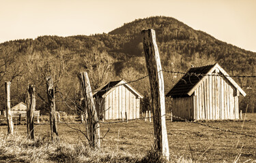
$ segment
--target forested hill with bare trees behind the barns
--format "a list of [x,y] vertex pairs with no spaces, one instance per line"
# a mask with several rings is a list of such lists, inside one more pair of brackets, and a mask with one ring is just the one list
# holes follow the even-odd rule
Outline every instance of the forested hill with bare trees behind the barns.
[[[12,105],[15,105],[20,101],[25,102],[27,84],[35,84],[42,97],[38,107],[44,110],[46,105],[42,99],[46,99],[47,75],[53,76],[57,90],[63,93],[63,97],[57,95],[58,98],[67,99],[80,96],[77,81],[80,71],[89,72],[94,89],[114,79],[131,81],[147,75],[141,43],[143,29],[156,31],[163,69],[186,71],[190,65],[218,62],[230,75],[255,74],[255,52],[242,50],[207,33],[195,31],[174,18],[156,16],[125,23],[110,33],[42,36],[1,43],[1,90],[4,89],[4,81],[12,81]],[[165,73],[167,91],[177,79],[175,74]],[[254,79],[238,78],[236,82],[242,88],[256,86]],[[141,84],[145,87],[141,87]],[[149,96],[147,80],[132,86],[145,97]],[[1,99],[4,99],[4,91],[1,92]],[[70,104],[72,102],[68,101]],[[3,108],[3,101],[0,104]],[[65,110],[66,105],[58,103],[57,109]]]

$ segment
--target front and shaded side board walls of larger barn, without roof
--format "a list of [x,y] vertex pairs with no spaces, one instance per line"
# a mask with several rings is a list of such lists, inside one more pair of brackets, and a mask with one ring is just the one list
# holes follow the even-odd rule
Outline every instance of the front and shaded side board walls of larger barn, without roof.
[[[239,117],[238,96],[231,83],[212,73],[192,96],[173,98],[173,115],[187,120],[234,120]],[[238,90],[236,90],[238,91]]]

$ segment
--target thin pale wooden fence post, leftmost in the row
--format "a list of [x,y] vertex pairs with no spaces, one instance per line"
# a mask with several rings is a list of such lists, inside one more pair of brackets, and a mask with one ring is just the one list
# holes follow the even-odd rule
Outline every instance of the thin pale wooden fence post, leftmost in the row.
[[5,104],[5,115],[8,125],[8,134],[14,133],[14,124],[12,122],[12,112],[11,112],[11,82],[5,82],[5,96],[6,96],[6,104]]

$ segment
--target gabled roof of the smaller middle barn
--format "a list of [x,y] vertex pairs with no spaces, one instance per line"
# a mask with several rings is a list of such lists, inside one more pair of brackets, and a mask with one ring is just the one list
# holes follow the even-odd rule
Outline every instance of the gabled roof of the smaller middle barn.
[[130,86],[130,84],[127,84],[127,82],[124,79],[113,81],[113,82],[109,82],[108,84],[98,88],[96,90],[96,93],[94,94],[94,96],[98,96],[98,97],[103,97],[104,98],[107,94],[109,94],[110,92],[115,90],[115,88],[117,88],[117,86],[120,86],[120,85],[126,86],[132,92],[134,92],[134,94],[137,94],[137,96],[139,96],[140,98],[143,98],[143,96],[137,90],[135,90],[132,86]]

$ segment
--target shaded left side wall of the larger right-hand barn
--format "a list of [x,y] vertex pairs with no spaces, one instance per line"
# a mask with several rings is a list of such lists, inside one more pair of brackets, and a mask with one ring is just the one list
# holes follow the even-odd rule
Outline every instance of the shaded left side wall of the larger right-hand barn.
[[173,98],[173,115],[186,120],[193,120],[193,108],[193,96]]

